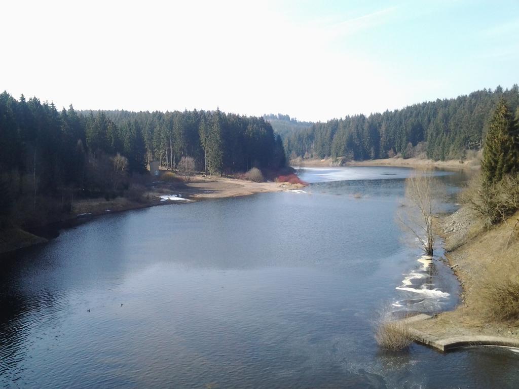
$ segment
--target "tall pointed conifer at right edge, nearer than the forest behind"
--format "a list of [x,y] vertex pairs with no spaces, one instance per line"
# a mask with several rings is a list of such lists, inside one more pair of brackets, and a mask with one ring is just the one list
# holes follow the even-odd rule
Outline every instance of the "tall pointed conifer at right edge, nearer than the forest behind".
[[506,102],[499,99],[490,120],[481,169],[485,183],[499,182],[505,174],[519,172],[517,122]]

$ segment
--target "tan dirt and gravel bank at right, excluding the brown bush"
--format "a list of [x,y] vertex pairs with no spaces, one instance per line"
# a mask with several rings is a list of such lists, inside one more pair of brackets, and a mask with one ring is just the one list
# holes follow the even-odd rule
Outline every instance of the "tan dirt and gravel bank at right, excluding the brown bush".
[[[462,303],[426,321],[410,324],[412,329],[436,338],[456,336],[499,336],[519,339],[519,323],[498,321],[488,317],[492,301],[484,298],[485,290],[499,285],[516,269],[519,241],[511,238],[513,216],[490,230],[475,211],[463,207],[445,217],[441,232],[445,236],[446,258],[462,286]],[[513,236],[513,235],[512,235]],[[508,270],[508,271],[507,271]],[[483,293],[482,293],[483,292]]]

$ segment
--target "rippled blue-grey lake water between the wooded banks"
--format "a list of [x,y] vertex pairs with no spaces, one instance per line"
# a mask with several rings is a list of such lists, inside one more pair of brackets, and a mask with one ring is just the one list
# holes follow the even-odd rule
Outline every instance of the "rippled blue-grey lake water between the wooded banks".
[[106,215],[4,258],[0,387],[517,387],[507,349],[379,350],[381,312],[459,300],[395,223],[408,169],[301,174],[307,193]]

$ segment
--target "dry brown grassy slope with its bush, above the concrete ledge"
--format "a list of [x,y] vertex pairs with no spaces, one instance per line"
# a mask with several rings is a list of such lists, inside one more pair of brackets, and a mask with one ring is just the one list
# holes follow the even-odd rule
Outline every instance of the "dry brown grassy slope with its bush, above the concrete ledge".
[[476,216],[474,211],[459,214],[456,219],[462,228],[450,233],[456,242],[447,237],[452,251],[446,256],[461,281],[463,303],[454,311],[409,324],[412,329],[438,338],[456,335],[519,338],[519,238],[513,231],[519,212],[508,218],[507,223],[503,221],[489,229],[483,228],[480,220],[467,223]]

